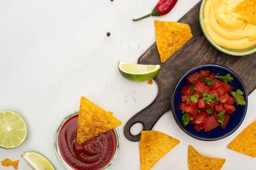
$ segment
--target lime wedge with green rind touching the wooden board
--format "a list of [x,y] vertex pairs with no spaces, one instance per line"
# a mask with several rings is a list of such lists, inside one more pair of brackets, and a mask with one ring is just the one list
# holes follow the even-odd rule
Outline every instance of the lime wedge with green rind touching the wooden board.
[[160,71],[160,65],[140,65],[119,61],[118,69],[123,77],[132,82],[144,82],[153,79]]

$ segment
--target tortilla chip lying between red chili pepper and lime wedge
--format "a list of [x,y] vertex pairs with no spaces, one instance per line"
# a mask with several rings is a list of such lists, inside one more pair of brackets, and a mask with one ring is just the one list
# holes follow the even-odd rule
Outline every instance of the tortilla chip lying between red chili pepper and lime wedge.
[[187,24],[155,20],[154,26],[161,62],[166,62],[193,37]]

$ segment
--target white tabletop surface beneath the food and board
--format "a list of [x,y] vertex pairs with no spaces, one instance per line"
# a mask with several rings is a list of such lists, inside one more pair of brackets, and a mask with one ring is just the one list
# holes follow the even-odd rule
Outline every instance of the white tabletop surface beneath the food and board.
[[[131,20],[150,13],[157,2],[0,0],[0,110],[20,113],[28,127],[26,141],[16,149],[0,149],[0,160],[20,159],[19,170],[29,170],[20,155],[36,151],[47,156],[56,170],[63,170],[53,150],[54,131],[65,115],[79,110],[80,97],[84,95],[113,111],[123,122],[119,127],[120,154],[111,169],[140,169],[139,143],[125,139],[123,126],[153,101],[157,84],[125,80],[118,72],[118,61],[136,63],[140,54],[155,42],[154,20],[177,21],[198,0],[179,0],[163,17]],[[111,32],[110,37],[107,32]],[[255,170],[255,159],[227,149],[227,144],[256,119],[255,103],[254,91],[249,96],[243,124],[233,135],[216,142],[202,142],[186,135],[176,125],[172,113],[166,113],[153,130],[179,139],[180,144],[152,170],[188,170],[189,144],[206,156],[225,158],[222,170]],[[140,128],[138,125],[133,131]],[[0,166],[0,170],[5,169],[12,168]]]

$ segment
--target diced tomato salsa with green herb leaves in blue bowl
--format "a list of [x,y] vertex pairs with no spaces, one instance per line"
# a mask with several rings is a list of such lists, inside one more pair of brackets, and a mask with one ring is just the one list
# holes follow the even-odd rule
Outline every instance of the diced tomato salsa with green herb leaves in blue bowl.
[[[235,99],[230,95],[233,87],[215,77],[215,73],[201,70],[186,78],[189,85],[181,90],[179,109],[188,113],[194,129],[200,132],[212,130],[218,126],[227,126],[230,115],[236,111]],[[193,86],[195,88],[193,88]]]

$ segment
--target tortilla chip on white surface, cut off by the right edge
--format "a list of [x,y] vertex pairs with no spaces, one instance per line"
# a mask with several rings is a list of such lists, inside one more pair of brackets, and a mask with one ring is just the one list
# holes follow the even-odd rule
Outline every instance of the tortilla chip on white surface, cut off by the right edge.
[[246,127],[236,138],[227,146],[236,152],[256,157],[256,121]]

